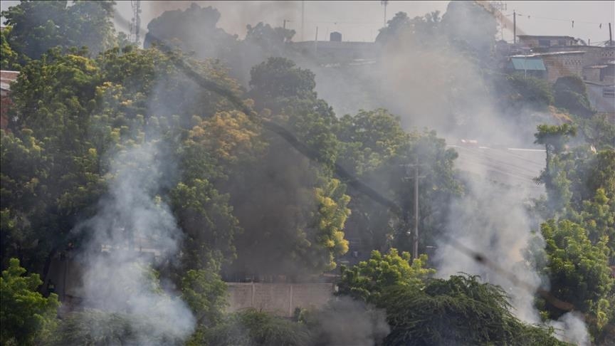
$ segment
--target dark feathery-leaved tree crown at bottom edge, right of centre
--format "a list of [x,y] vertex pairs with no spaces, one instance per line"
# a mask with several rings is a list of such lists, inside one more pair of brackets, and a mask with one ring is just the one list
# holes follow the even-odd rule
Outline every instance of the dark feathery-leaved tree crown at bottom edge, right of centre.
[[422,290],[392,286],[381,306],[391,325],[386,345],[565,345],[517,320],[504,291],[475,276],[431,279]]

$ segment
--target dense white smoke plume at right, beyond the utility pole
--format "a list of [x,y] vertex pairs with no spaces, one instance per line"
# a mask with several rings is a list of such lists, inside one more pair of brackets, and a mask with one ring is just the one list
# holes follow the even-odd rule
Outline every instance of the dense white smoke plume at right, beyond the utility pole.
[[[542,280],[536,268],[525,263],[522,256],[533,237],[523,204],[527,195],[519,189],[498,186],[484,177],[468,180],[465,196],[453,202],[448,236],[539,288]],[[438,276],[443,278],[463,272],[480,275],[485,281],[502,286],[510,295],[513,313],[518,318],[529,323],[540,322],[533,305],[533,292],[511,283],[502,273],[491,271],[446,241],[438,245],[436,262]]]

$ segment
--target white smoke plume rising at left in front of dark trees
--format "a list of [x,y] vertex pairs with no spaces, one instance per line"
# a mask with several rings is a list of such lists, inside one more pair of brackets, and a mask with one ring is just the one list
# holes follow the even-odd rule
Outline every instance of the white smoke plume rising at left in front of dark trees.
[[[77,227],[91,234],[88,251],[80,254],[84,305],[140,319],[133,341],[141,345],[184,340],[194,329],[189,308],[164,293],[149,267],[172,261],[181,240],[169,206],[157,196],[163,161],[155,142],[116,154],[108,195]],[[147,325],[147,335],[139,325]]]

